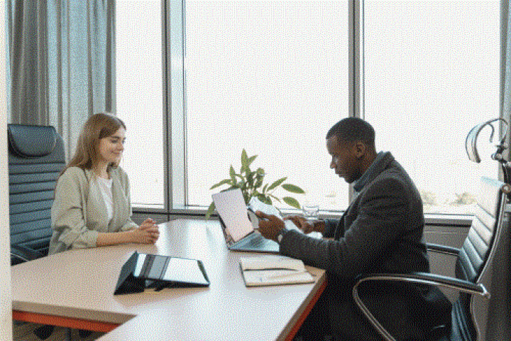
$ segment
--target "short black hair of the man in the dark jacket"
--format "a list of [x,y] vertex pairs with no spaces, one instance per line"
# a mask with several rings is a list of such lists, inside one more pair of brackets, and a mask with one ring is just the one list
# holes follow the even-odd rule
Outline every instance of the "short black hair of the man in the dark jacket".
[[341,119],[326,134],[326,139],[337,136],[337,141],[362,141],[366,146],[375,146],[375,131],[367,121],[358,117]]

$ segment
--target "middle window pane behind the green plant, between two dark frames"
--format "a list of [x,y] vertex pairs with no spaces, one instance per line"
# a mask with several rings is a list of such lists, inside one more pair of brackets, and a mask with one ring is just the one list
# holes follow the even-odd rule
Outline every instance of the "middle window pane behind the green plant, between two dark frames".
[[348,116],[347,14],[347,1],[186,1],[189,205],[209,205],[245,148],[268,182],[317,195],[298,200],[346,207],[325,136]]

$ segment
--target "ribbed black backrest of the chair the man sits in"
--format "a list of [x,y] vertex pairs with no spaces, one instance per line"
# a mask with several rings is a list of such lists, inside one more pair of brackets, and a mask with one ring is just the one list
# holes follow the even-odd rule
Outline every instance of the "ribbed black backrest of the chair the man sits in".
[[[480,278],[490,267],[498,244],[502,219],[507,202],[509,185],[498,180],[481,178],[480,193],[476,212],[467,237],[456,260],[456,277],[479,283]],[[460,340],[476,340],[481,330],[471,314],[473,296],[461,293],[453,305],[453,333]],[[453,337],[456,338],[456,337]]]

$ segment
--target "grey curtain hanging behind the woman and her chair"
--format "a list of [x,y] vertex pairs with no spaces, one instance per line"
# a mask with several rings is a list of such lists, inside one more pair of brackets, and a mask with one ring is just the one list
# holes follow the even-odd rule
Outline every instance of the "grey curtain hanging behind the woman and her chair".
[[7,0],[9,123],[53,125],[67,159],[84,121],[115,112],[114,0]]

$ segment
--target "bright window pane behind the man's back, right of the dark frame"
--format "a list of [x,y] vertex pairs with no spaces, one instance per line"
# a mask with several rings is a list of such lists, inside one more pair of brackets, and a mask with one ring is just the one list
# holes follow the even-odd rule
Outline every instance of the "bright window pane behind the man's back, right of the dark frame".
[[465,138],[499,116],[499,1],[366,0],[363,13],[364,115],[378,148],[410,173],[425,212],[470,213],[478,178],[498,170],[489,135],[480,164]]

